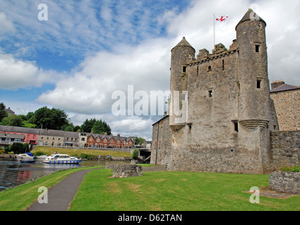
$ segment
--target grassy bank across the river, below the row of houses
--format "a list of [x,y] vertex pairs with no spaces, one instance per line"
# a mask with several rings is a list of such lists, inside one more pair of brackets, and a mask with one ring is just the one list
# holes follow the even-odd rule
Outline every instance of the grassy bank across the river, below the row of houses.
[[70,149],[70,148],[55,148],[55,147],[46,147],[46,146],[35,146],[35,150],[32,150],[32,153],[43,152],[46,155],[52,155],[54,152],[61,154],[67,154],[71,156],[78,156],[80,158],[81,154],[87,155],[111,155],[112,157],[132,157],[131,153],[124,152],[114,152],[112,150],[91,150],[91,149]]

